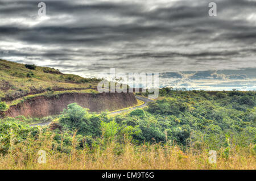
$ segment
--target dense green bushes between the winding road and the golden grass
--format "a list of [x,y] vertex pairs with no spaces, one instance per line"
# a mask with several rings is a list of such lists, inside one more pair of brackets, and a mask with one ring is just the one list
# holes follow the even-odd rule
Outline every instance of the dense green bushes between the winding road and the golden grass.
[[[167,142],[177,144],[184,150],[189,146],[199,150],[224,148],[220,155],[229,158],[230,150],[235,146],[256,144],[255,91],[180,91],[165,88],[159,92],[163,97],[148,103],[147,108],[114,117],[104,112],[90,114],[76,103],[69,104],[59,116],[60,127],[53,131],[54,146],[70,153],[74,138],[79,143],[77,148],[104,147],[109,141],[119,145],[125,141],[124,138],[129,138],[135,144]],[[11,127],[18,130],[15,125]],[[20,128],[19,125],[17,127]],[[21,141],[28,135],[23,131],[16,134],[22,137]],[[5,134],[0,136],[1,139],[5,137]],[[103,145],[100,137],[104,138]],[[7,148],[3,148],[2,153],[9,149],[8,142],[11,143],[8,140],[4,142]],[[121,146],[117,146],[117,153],[121,152]]]

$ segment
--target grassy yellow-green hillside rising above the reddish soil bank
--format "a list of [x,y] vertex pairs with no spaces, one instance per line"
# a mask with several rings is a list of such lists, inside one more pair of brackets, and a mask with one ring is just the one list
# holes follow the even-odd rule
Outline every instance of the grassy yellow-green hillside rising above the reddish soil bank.
[[45,91],[96,89],[98,81],[0,59],[0,98],[5,102]]

